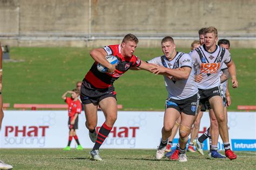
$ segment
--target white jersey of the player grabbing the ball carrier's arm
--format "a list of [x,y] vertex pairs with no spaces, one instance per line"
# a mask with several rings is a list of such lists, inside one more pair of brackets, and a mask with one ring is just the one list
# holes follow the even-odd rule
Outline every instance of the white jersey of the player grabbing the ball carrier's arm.
[[193,62],[190,55],[183,52],[177,52],[176,56],[171,61],[167,60],[166,56],[163,55],[147,62],[171,69],[190,67],[191,73],[188,79],[171,80],[164,75],[166,90],[168,91],[168,96],[175,100],[183,100],[197,94],[198,88],[194,81]]

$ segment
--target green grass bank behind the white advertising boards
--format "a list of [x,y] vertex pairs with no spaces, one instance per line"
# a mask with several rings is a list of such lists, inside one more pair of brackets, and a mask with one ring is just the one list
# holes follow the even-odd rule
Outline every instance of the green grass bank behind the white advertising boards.
[[[3,63],[4,103],[63,103],[66,90],[75,88],[90,69],[90,48],[11,48],[11,59]],[[178,49],[189,52],[189,49]],[[237,65],[239,88],[231,88],[232,104],[255,105],[255,49],[232,49]],[[160,48],[138,48],[136,55],[149,60],[162,55]],[[21,61],[22,60],[22,61]],[[163,76],[145,71],[131,71],[114,83],[119,104],[124,110],[164,110],[167,92]]]

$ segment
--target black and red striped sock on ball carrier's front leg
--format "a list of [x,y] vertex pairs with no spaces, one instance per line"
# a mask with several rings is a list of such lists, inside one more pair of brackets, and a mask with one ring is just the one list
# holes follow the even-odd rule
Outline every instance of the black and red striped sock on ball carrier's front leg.
[[110,131],[112,130],[112,128],[110,128],[109,126],[107,126],[105,124],[105,122],[103,123],[102,127],[100,127],[99,132],[98,132],[98,136],[97,136],[97,140],[95,145],[92,148],[92,151],[94,150],[99,150],[99,147],[103,144],[104,140],[106,139],[106,137],[109,135]]

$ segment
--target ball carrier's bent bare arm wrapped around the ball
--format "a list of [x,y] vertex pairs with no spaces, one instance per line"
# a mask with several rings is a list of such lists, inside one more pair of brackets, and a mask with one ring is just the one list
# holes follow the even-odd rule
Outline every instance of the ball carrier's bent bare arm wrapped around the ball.
[[114,70],[116,70],[116,64],[111,65],[109,61],[106,60],[105,56],[107,56],[107,53],[103,48],[95,48],[90,52],[91,57],[93,60],[99,62],[101,65],[105,66],[107,68],[107,72],[113,73]]

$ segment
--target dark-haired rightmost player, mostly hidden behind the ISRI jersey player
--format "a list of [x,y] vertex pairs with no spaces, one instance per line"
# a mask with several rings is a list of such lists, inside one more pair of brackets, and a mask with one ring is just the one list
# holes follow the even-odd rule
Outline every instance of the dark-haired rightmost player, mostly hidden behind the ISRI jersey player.
[[[221,39],[218,41],[218,45],[220,47],[223,47],[223,48],[227,49],[228,51],[230,51],[230,41],[228,41],[226,39]],[[200,79],[197,79],[197,80],[200,80]],[[223,97],[224,112],[225,112],[226,119],[227,119],[227,107],[230,106],[230,104],[231,104],[230,91],[228,89],[228,81],[227,80],[228,80],[227,66],[223,65],[223,67],[221,68],[221,71],[220,71],[220,82],[221,82],[220,88],[221,88],[221,95]],[[212,146],[213,148],[214,147],[217,148],[218,136],[219,136],[218,122],[216,120],[215,114],[212,111],[212,109],[210,109],[209,112],[210,112],[210,117],[211,117],[210,128],[208,128],[207,131],[205,131],[199,138],[196,138],[194,140],[194,143],[196,144],[196,147],[198,150],[202,150],[204,140],[206,140],[208,137],[211,137],[209,130],[212,128],[215,129],[215,130],[212,130],[215,132],[213,134],[215,136],[215,138],[214,138],[215,141],[213,141],[213,144],[212,144],[212,140],[210,138],[210,147]],[[212,158],[225,158],[225,157],[223,157],[223,155],[220,155],[219,153],[215,153],[215,155],[213,155],[211,153],[211,150],[210,150],[209,156],[211,156]]]

